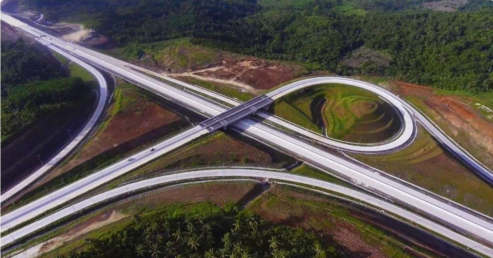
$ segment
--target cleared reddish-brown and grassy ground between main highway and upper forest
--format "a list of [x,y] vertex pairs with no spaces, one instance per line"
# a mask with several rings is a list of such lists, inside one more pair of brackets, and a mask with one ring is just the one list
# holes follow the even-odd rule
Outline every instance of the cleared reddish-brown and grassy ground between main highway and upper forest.
[[252,94],[309,73],[299,65],[199,46],[188,38],[129,44],[106,53],[163,75],[208,80]]

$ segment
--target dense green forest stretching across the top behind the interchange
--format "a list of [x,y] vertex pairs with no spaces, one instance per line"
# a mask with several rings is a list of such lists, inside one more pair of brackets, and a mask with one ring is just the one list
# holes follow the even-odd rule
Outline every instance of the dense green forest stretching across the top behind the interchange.
[[[81,22],[121,46],[191,37],[242,54],[341,75],[374,74],[443,89],[493,89],[493,2],[457,12],[430,0],[23,0],[48,20]],[[345,60],[366,47],[389,64]]]

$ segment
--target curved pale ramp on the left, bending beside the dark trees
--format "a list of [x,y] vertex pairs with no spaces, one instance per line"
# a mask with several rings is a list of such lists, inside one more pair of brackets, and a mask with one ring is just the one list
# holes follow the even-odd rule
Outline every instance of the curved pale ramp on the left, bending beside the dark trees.
[[[48,45],[51,49],[53,49],[53,46]],[[75,58],[74,56],[66,53],[66,52],[61,52],[62,55],[64,55],[66,58],[70,59],[71,61],[77,63],[84,69],[86,69],[89,73],[93,74],[94,77],[98,80],[99,83],[99,100],[98,100],[98,105],[96,106],[96,109],[94,110],[92,116],[89,118],[85,126],[80,130],[80,132],[75,135],[75,137],[65,146],[63,147],[55,156],[53,156],[50,160],[48,160],[46,163],[44,163],[43,166],[35,170],[33,173],[31,173],[28,177],[24,178],[21,182],[15,184],[14,186],[10,187],[8,190],[6,190],[3,194],[1,194],[0,199],[3,202],[4,200],[12,197],[14,194],[18,193],[22,189],[26,188],[28,185],[32,184],[35,182],[39,177],[44,175],[48,170],[53,168],[54,165],[58,164],[63,158],[65,158],[68,154],[70,154],[76,147],[79,146],[79,144],[86,138],[86,136],[92,131],[92,129],[95,127],[98,119],[100,118],[101,114],[103,113],[103,110],[105,109],[106,105],[106,100],[107,100],[107,86],[106,86],[106,80],[103,77],[103,74],[101,74],[98,70],[94,69],[94,67],[88,65],[85,62],[82,62],[81,60]]]

